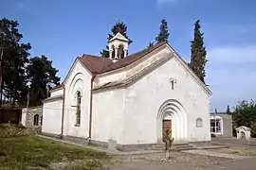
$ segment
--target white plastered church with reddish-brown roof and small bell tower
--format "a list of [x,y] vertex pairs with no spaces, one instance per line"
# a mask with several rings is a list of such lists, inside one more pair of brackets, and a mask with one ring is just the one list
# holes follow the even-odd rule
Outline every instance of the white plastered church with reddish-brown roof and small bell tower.
[[109,58],[83,54],[44,100],[42,132],[119,147],[210,141],[210,89],[168,42],[128,55],[118,33]]

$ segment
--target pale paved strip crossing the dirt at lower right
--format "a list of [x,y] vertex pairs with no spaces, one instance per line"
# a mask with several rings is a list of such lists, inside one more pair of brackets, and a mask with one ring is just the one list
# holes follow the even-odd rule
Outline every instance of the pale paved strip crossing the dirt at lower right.
[[196,154],[196,155],[211,156],[211,157],[222,157],[222,158],[228,158],[228,159],[233,159],[233,160],[243,160],[243,159],[251,158],[251,157],[241,156],[241,155],[218,153],[218,152],[214,152],[214,151],[210,151],[210,150],[186,150],[183,152],[192,153],[192,154]]

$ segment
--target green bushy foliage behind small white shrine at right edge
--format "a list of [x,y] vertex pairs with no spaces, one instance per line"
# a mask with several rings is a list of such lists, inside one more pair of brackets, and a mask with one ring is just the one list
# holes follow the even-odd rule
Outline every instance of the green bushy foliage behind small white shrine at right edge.
[[252,137],[256,137],[256,104],[254,101],[243,100],[239,102],[233,112],[233,121],[234,127],[250,127]]

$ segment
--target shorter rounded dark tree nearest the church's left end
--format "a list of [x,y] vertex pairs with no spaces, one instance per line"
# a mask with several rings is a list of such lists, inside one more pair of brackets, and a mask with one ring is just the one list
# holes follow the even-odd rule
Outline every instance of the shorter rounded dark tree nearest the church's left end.
[[29,59],[27,65],[27,79],[29,88],[29,106],[42,105],[48,96],[49,90],[60,84],[58,70],[52,66],[52,61],[46,56]]

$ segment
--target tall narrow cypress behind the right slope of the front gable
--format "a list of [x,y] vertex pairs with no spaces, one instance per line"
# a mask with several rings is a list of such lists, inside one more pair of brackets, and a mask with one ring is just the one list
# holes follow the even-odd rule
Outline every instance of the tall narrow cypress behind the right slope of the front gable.
[[191,62],[189,66],[192,71],[205,83],[206,63],[208,62],[206,47],[204,46],[204,33],[200,31],[200,21],[194,24],[193,40],[191,41]]

